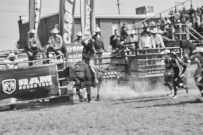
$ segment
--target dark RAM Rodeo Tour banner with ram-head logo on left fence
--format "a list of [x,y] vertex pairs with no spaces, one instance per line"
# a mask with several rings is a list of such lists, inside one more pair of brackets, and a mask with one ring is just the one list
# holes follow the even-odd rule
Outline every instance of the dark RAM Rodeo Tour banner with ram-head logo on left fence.
[[32,100],[56,95],[56,65],[0,71],[0,100]]

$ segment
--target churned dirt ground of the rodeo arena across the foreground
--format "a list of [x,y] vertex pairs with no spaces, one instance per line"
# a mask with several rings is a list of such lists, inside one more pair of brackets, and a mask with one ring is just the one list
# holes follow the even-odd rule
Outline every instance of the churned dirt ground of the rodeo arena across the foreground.
[[[2,135],[202,135],[203,98],[194,89],[91,103],[33,103],[0,112]],[[115,94],[115,93],[114,93]],[[131,93],[132,94],[132,93]],[[117,95],[118,96],[118,95]]]

